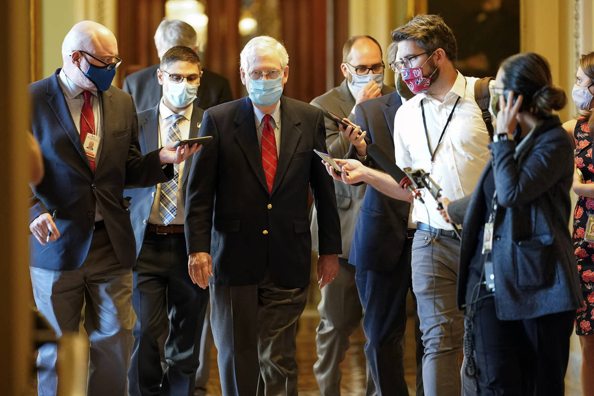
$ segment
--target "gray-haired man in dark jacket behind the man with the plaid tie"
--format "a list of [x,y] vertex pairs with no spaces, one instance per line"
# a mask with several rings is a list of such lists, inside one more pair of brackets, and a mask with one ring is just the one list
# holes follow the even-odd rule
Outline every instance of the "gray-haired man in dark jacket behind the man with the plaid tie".
[[[179,20],[163,19],[154,34],[154,44],[157,47],[159,59],[169,48],[183,45],[198,50],[196,45],[196,31],[192,26]],[[141,112],[156,106],[163,94],[161,85],[157,81],[159,64],[132,73],[124,79],[122,89],[134,97],[136,110]],[[203,81],[198,87],[194,104],[200,109],[233,100],[229,81],[220,74],[203,69]]]

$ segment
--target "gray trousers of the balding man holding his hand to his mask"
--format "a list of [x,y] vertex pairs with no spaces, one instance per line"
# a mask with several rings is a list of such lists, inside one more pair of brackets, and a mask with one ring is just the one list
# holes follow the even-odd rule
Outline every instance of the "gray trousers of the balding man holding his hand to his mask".
[[[318,305],[320,324],[315,330],[318,360],[314,364],[314,375],[321,396],[340,395],[342,371],[339,365],[345,360],[349,337],[361,322],[363,310],[355,283],[355,267],[344,258],[339,258],[339,263],[338,274],[321,290]],[[368,378],[365,394],[377,395],[369,368],[365,366]]]

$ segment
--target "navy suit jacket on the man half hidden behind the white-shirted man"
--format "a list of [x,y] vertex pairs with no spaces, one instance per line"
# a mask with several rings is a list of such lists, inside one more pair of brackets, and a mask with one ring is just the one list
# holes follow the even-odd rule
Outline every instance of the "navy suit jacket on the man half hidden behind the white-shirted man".
[[[355,123],[367,131],[367,143],[380,145],[393,160],[394,115],[400,104],[400,96],[394,91],[355,107]],[[354,147],[350,148],[348,157],[357,158]],[[379,167],[371,157],[365,164]],[[409,202],[387,197],[367,186],[355,224],[350,264],[366,270],[393,271],[404,254],[409,210]]]

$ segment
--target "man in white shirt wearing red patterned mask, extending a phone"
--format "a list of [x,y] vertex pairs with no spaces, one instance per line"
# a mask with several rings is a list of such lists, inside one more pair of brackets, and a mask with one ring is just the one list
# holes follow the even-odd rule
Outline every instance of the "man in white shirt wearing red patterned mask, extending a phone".
[[[418,15],[394,30],[392,40],[402,61],[390,66],[415,94],[394,117],[396,164],[429,172],[443,197],[463,198],[472,193],[489,158],[489,134],[474,95],[478,79],[464,77],[454,68],[456,39],[438,15]],[[390,176],[349,161],[342,168],[345,182],[368,182],[390,197],[410,199]],[[424,391],[428,396],[460,395],[458,358],[464,334],[464,315],[456,306],[460,240],[453,224],[435,210],[438,203],[431,195],[424,194],[423,199],[425,204],[413,202],[416,232],[411,267],[425,346]]]

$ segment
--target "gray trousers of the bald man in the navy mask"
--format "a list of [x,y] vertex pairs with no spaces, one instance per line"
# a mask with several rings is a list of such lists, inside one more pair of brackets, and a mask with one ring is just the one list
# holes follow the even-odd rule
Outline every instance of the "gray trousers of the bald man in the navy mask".
[[[37,243],[37,242],[34,242]],[[122,268],[105,228],[93,233],[89,254],[72,271],[31,267],[33,295],[39,312],[59,336],[78,332],[84,305],[89,335],[89,396],[125,396],[126,373],[134,337],[132,270]],[[37,357],[40,396],[56,395],[55,344],[44,344]]]

